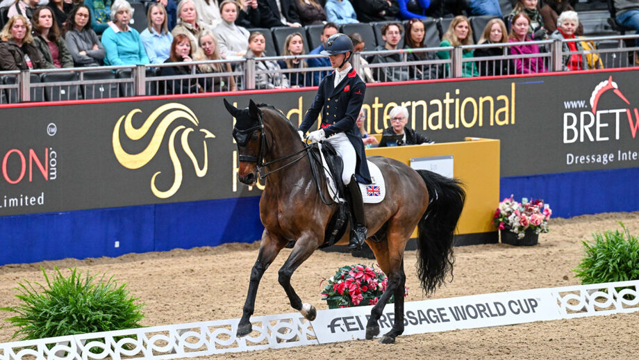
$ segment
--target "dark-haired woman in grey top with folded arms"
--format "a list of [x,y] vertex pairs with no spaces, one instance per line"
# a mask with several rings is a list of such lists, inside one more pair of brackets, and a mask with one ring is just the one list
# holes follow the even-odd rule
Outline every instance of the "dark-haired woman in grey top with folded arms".
[[98,35],[91,28],[91,13],[86,5],[78,5],[65,24],[65,42],[74,66],[100,66],[106,55]]

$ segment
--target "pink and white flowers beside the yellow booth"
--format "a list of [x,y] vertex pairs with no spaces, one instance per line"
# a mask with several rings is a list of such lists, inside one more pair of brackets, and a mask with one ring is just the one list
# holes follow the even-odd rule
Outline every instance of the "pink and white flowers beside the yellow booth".
[[529,202],[524,197],[522,202],[516,202],[511,195],[499,203],[492,224],[499,230],[510,229],[517,238],[524,238],[527,229],[535,231],[535,234],[547,233],[550,215],[550,206],[543,200]]

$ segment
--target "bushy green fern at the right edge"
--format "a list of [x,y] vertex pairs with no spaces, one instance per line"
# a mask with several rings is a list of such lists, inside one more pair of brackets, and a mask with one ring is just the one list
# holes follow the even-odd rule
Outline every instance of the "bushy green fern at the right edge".
[[594,243],[582,241],[586,257],[573,270],[581,284],[639,279],[639,238],[631,236],[622,222],[619,224],[623,231],[592,234]]

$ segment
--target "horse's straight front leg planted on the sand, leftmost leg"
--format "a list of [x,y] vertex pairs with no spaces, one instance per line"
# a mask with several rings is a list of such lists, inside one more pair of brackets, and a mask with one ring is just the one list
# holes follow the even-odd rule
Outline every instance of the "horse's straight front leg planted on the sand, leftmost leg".
[[247,336],[251,334],[253,325],[251,325],[251,315],[255,311],[255,297],[258,293],[258,286],[260,285],[260,279],[266,269],[271,265],[277,254],[282,249],[283,244],[281,241],[269,236],[268,231],[265,229],[262,234],[262,243],[260,245],[260,252],[258,259],[253,265],[251,270],[251,280],[249,281],[249,293],[247,294],[247,301],[244,303],[244,311],[242,312],[242,318],[238,324],[237,336]]

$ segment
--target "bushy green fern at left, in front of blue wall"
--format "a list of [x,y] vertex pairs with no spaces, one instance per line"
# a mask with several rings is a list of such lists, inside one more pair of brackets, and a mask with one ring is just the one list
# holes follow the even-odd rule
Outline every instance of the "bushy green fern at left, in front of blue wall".
[[15,295],[22,304],[0,308],[16,314],[6,319],[10,326],[19,327],[13,338],[31,340],[140,327],[143,304],[129,296],[126,284],[117,286],[113,277],[104,281],[105,275],[94,284],[95,275],[82,277],[76,268],[69,269],[69,277],[55,268],[56,275],[49,280],[41,269],[47,288],[25,280],[18,283],[20,293]]

